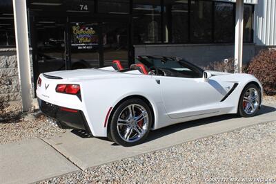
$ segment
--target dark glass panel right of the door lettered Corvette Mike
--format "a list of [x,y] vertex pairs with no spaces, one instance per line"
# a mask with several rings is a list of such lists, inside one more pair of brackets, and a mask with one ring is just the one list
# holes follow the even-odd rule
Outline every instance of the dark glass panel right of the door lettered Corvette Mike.
[[113,60],[128,67],[128,24],[124,21],[103,21],[103,65],[111,66]]

